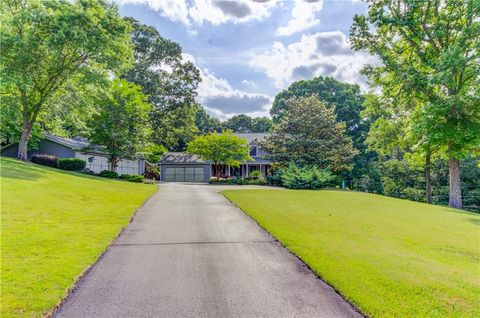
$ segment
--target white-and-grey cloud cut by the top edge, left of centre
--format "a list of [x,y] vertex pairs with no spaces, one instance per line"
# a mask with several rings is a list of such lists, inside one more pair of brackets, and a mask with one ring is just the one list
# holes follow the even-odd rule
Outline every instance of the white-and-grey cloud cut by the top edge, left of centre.
[[114,0],[119,5],[143,4],[158,11],[173,22],[187,27],[193,23],[209,22],[213,25],[244,23],[267,18],[277,0]]

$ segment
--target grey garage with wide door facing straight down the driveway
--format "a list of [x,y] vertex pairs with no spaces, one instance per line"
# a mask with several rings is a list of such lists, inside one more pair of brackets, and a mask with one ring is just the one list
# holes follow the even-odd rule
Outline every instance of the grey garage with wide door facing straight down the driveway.
[[184,152],[168,152],[160,159],[160,180],[165,182],[209,182],[209,161]]

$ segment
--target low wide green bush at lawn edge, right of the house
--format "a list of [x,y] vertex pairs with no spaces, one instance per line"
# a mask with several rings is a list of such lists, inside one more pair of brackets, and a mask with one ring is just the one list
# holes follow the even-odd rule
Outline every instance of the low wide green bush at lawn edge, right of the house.
[[279,169],[279,175],[282,185],[289,189],[320,189],[336,179],[329,170],[316,166],[299,167],[294,163]]

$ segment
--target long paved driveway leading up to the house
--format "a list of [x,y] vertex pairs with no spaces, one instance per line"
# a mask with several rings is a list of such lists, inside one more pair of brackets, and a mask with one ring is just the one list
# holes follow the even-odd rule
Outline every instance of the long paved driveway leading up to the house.
[[361,317],[226,188],[161,184],[55,317]]

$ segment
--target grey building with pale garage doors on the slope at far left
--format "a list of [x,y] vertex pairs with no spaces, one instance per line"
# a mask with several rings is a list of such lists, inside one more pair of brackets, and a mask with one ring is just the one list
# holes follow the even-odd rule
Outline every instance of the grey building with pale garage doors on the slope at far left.
[[[1,149],[1,155],[17,157],[18,143],[6,145]],[[109,170],[108,156],[102,151],[102,147],[90,144],[85,138],[64,138],[45,133],[40,141],[38,149],[28,151],[30,159],[33,154],[48,154],[58,158],[79,158],[85,160],[86,167],[95,173]],[[145,171],[145,159],[140,157],[135,160],[122,159],[118,162],[118,174],[143,174]]]

